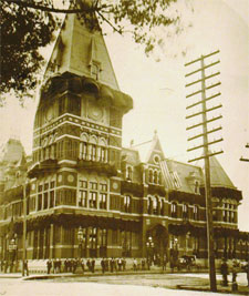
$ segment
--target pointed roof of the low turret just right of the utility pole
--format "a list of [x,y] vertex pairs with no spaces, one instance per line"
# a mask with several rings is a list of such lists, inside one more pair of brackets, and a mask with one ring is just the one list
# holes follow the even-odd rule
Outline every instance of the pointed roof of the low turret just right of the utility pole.
[[209,159],[211,187],[236,188],[216,156]]

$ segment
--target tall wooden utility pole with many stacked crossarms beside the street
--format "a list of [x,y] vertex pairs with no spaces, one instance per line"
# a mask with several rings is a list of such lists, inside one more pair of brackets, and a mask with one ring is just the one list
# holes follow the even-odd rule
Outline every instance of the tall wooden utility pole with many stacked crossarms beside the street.
[[212,89],[215,86],[220,85],[220,82],[215,83],[215,84],[210,84],[210,85],[206,85],[206,82],[209,79],[219,75],[220,72],[216,72],[214,74],[208,74],[207,75],[206,74],[206,70],[211,68],[211,67],[214,67],[214,65],[216,65],[216,64],[218,64],[219,61],[210,62],[209,64],[205,64],[205,61],[207,61],[206,60],[207,58],[209,58],[211,55],[215,55],[217,53],[219,53],[219,51],[215,51],[215,52],[212,52],[210,54],[207,54],[207,55],[201,55],[200,58],[198,58],[198,59],[185,64],[185,67],[188,67],[188,65],[195,64],[197,62],[200,62],[200,68],[198,68],[197,70],[194,70],[194,71],[191,71],[191,72],[189,72],[189,73],[187,73],[185,75],[186,78],[188,78],[188,76],[191,76],[191,75],[195,75],[195,74],[197,74],[197,75],[200,74],[200,78],[196,79],[194,82],[187,83],[185,86],[188,88],[188,86],[196,85],[196,84],[198,85],[198,83],[200,83],[200,85],[201,85],[200,90],[195,91],[195,92],[186,95],[186,98],[188,99],[188,98],[196,98],[195,95],[201,94],[201,99],[200,100],[196,101],[195,103],[193,103],[193,104],[190,104],[190,105],[188,105],[186,108],[187,110],[189,110],[191,108],[201,106],[200,111],[195,112],[194,114],[190,114],[190,115],[186,116],[186,119],[191,119],[191,118],[195,118],[195,116],[201,116],[201,121],[199,123],[197,123],[197,124],[188,126],[186,130],[189,131],[189,130],[193,130],[193,129],[196,129],[196,127],[201,127],[203,132],[199,133],[198,135],[189,137],[188,141],[193,141],[193,140],[196,140],[196,139],[203,139],[203,144],[197,145],[197,146],[193,146],[193,147],[188,149],[187,151],[190,152],[190,151],[194,151],[194,150],[197,150],[197,149],[203,149],[203,152],[204,152],[201,156],[193,159],[193,160],[189,160],[188,162],[195,162],[195,161],[198,161],[198,160],[204,160],[205,161],[205,197],[206,197],[209,280],[210,280],[210,290],[212,290],[212,292],[217,290],[217,284],[216,284],[216,266],[215,266],[215,252],[214,252],[212,201],[211,201],[209,157],[212,156],[212,155],[216,155],[216,154],[220,154],[220,153],[222,153],[222,151],[211,153],[209,151],[209,145],[212,145],[212,144],[216,144],[218,142],[221,142],[222,139],[209,141],[208,140],[208,135],[211,134],[211,133],[215,133],[217,131],[220,131],[221,126],[209,129],[208,124],[212,123],[216,120],[221,119],[222,116],[219,115],[219,116],[215,116],[215,118],[208,119],[207,114],[208,114],[208,112],[217,110],[217,109],[221,108],[222,105],[219,104],[219,105],[216,105],[216,106],[212,106],[212,108],[209,108],[209,109],[207,108],[207,102],[208,101],[210,101],[210,100],[212,100],[212,99],[215,99],[215,98],[220,95],[220,92],[218,92],[218,93],[212,94],[209,98],[207,98],[207,95],[206,95],[207,90],[210,90],[210,89]]

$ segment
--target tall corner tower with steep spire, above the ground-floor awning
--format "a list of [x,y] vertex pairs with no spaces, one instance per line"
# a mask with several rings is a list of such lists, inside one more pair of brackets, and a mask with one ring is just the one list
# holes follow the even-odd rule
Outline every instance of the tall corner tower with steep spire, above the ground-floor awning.
[[115,210],[122,119],[132,108],[132,98],[120,91],[102,33],[66,16],[35,114],[30,212],[106,215]]

